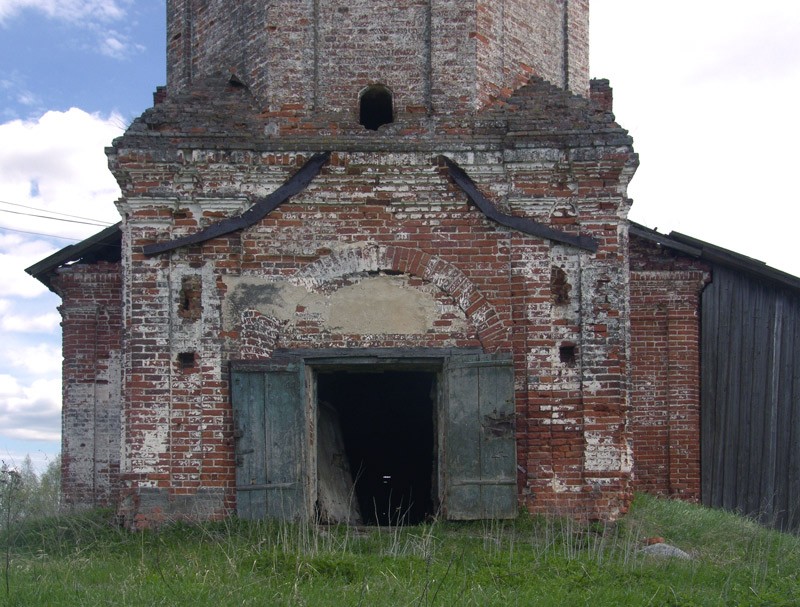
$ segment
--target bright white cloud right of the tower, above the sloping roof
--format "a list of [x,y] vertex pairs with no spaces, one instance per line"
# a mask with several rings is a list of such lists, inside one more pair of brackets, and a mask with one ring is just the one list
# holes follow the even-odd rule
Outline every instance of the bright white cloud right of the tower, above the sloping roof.
[[593,0],[592,75],[641,165],[631,219],[800,274],[800,3]]

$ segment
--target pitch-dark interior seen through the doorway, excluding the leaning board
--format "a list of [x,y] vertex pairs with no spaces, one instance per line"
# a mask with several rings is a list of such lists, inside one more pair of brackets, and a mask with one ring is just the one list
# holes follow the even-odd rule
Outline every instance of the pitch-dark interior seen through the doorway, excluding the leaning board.
[[421,371],[317,375],[317,398],[335,411],[365,524],[413,525],[433,514],[435,381]]

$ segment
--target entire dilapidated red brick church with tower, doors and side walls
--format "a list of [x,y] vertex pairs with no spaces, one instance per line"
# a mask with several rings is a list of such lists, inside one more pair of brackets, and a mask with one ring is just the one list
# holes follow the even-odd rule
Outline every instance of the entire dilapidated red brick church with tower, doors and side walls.
[[63,300],[63,496],[614,518],[700,497],[708,264],[627,220],[588,0],[168,0]]

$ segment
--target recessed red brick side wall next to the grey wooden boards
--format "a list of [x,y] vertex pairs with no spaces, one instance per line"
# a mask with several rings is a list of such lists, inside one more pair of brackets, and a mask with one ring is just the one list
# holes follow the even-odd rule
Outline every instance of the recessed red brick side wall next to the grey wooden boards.
[[700,294],[708,268],[631,239],[636,490],[700,498]]

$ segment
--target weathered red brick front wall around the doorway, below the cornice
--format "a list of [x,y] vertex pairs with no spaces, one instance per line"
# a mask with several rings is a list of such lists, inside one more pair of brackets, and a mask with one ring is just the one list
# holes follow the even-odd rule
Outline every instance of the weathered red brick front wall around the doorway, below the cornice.
[[[250,228],[145,256],[144,244],[193,233],[246,208],[224,192],[271,191],[307,155],[251,155],[243,164],[241,155],[237,163],[221,153],[194,154],[186,167],[153,163],[142,172],[140,154],[121,148],[114,157],[118,170],[146,177],[126,182],[123,514],[137,524],[198,515],[189,497],[199,492],[206,500],[200,516],[229,511],[235,469],[227,361],[265,359],[275,348],[342,347],[511,352],[521,503],[590,518],[624,512],[630,454],[627,320],[620,310],[627,299],[627,250],[619,213],[626,202],[604,183],[620,179],[629,157],[618,148],[586,151],[569,175],[553,179],[547,163],[532,164],[517,153],[519,163],[500,170],[493,154],[450,155],[492,197],[514,184],[516,213],[588,231],[597,253],[490,221],[427,153],[354,152],[333,154],[305,191]],[[181,188],[198,186],[179,177],[150,178],[185,168],[213,179],[189,193]],[[185,203],[165,206],[142,197],[157,194],[161,183]],[[554,267],[569,285],[558,301]],[[192,283],[187,276],[202,284],[199,318],[180,309],[181,292]],[[407,333],[342,331],[310,304],[276,312],[232,303],[242,281],[280,288],[282,300],[300,289],[303,301],[325,303],[375,276],[422,293],[437,310],[431,324]],[[562,348],[572,348],[574,359],[562,359]],[[190,352],[197,364],[182,369],[178,356]],[[156,497],[159,491],[171,501]],[[175,506],[180,496],[187,496],[185,507]]]

